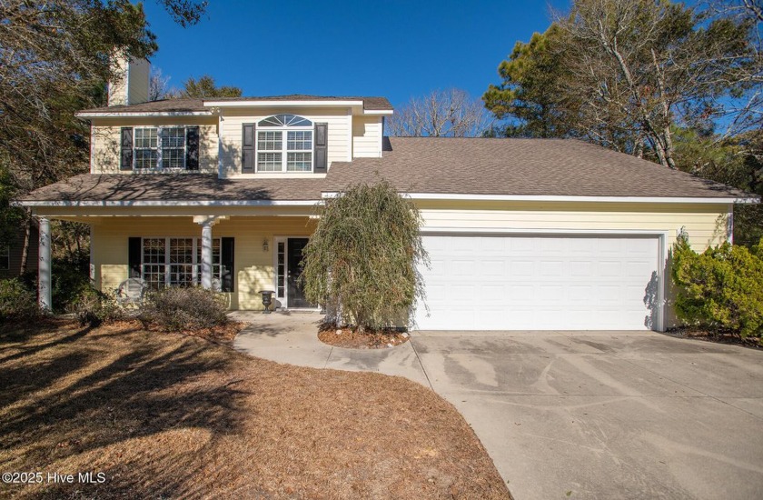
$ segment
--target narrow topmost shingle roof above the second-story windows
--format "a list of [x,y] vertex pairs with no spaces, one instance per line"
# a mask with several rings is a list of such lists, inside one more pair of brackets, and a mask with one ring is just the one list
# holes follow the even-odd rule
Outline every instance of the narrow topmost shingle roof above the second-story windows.
[[363,109],[391,110],[386,97],[328,96],[328,95],[266,95],[253,97],[210,97],[208,99],[163,99],[140,105],[113,105],[84,109],[80,113],[187,113],[209,111],[204,101],[362,101]]

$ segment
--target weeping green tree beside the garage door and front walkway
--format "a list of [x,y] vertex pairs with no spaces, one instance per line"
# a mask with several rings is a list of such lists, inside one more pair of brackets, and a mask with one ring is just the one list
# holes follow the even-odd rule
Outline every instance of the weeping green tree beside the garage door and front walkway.
[[420,227],[415,205],[385,180],[327,200],[304,249],[307,299],[361,331],[410,319],[423,298],[417,265],[427,262]]

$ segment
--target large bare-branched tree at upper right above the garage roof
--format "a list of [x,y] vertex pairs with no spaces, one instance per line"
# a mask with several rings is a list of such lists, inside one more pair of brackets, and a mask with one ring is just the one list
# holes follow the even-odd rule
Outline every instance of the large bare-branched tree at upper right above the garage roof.
[[754,57],[748,23],[709,20],[667,0],[578,0],[557,23],[570,35],[568,91],[582,128],[622,124],[634,151],[645,141],[670,168],[671,127],[721,113]]

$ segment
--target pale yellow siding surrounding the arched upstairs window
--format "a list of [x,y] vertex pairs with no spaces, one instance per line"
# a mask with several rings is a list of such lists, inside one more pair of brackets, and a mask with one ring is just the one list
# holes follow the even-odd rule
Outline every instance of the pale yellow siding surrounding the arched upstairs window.
[[[252,115],[251,109],[225,110],[221,120],[221,154],[223,159],[223,177],[241,175],[241,142],[242,125],[256,124],[263,118],[291,113],[300,115],[312,123],[326,123],[329,125],[328,135],[328,161],[329,167],[332,162],[345,162],[349,159],[350,150],[350,122],[351,116],[347,109],[302,109],[296,111],[284,108],[257,108],[256,115]],[[353,116],[357,119],[357,116]]]

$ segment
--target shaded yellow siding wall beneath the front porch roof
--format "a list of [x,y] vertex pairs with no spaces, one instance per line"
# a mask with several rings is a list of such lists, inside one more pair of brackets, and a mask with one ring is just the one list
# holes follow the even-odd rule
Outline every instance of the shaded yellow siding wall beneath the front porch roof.
[[[233,294],[225,294],[231,309],[262,309],[260,290],[274,285],[273,255],[276,236],[310,235],[315,221],[308,217],[236,217],[212,228],[214,238],[235,238]],[[127,238],[201,237],[201,225],[191,217],[120,217],[93,226],[95,285],[104,292],[128,277]],[[263,251],[267,239],[269,250]]]

